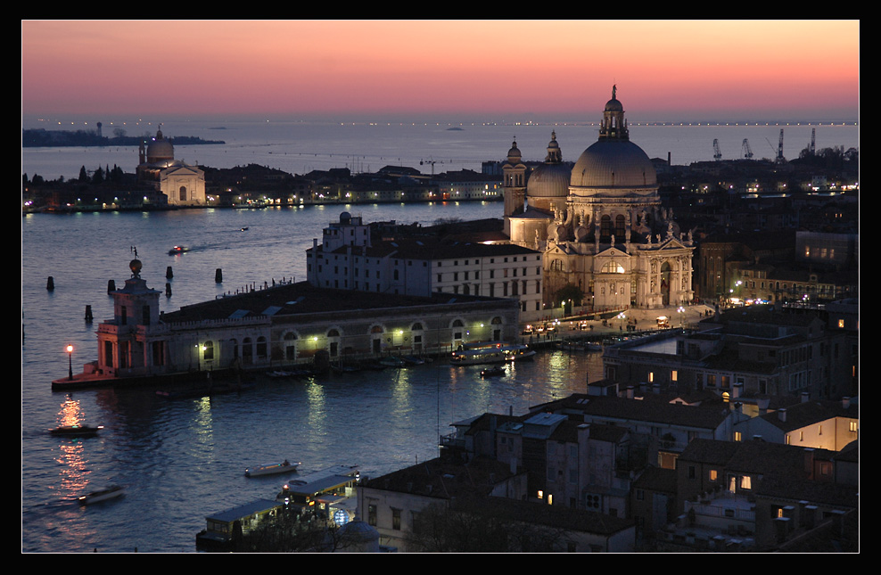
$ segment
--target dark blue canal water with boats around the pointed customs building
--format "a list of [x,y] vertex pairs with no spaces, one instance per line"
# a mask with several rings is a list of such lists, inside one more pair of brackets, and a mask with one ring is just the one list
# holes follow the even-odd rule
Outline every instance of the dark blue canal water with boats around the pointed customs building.
[[[284,483],[284,476],[245,478],[247,466],[284,458],[301,461],[301,472],[358,464],[375,477],[437,456],[438,436],[454,421],[486,411],[518,414],[584,391],[601,378],[599,354],[563,351],[542,351],[489,380],[477,366],[435,362],[314,380],[261,378],[255,390],[210,399],[169,401],[149,389],[51,390],[69,366],[79,372],[97,356],[95,330],[112,316],[108,283],[123,285],[135,250],[142,277],[163,293],[161,309],[172,311],[264,282],[305,280],[305,251],[342,210],[365,221],[428,226],[438,218],[498,218],[501,209],[495,202],[23,217],[22,551],[194,552],[206,515],[273,498]],[[191,251],[169,256],[175,244]],[[222,283],[215,283],[218,268]],[[104,429],[88,439],[49,435],[62,423]],[[126,486],[126,495],[77,504],[111,483]]]

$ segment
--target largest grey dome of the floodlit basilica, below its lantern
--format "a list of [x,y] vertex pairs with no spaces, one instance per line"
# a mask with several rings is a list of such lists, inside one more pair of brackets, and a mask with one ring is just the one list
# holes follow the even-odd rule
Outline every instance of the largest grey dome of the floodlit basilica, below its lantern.
[[657,173],[652,160],[637,144],[601,139],[575,162],[572,187],[656,188]]

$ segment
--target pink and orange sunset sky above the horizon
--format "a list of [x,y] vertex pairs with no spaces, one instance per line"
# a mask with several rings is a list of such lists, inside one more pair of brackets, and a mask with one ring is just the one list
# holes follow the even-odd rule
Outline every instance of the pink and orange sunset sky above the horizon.
[[21,21],[29,116],[859,119],[860,21]]

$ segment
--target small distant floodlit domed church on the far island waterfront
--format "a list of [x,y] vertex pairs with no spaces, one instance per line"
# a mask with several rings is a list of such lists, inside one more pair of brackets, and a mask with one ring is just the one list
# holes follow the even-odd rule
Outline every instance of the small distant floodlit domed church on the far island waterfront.
[[205,172],[175,160],[174,146],[162,136],[161,129],[156,131],[150,144],[141,142],[137,177],[164,193],[169,206],[204,206],[206,203]]

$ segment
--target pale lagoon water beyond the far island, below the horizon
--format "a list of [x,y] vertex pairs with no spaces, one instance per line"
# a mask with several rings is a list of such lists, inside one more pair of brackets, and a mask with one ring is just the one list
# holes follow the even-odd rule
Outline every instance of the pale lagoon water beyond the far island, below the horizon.
[[[599,111],[597,111],[599,116]],[[23,127],[59,129],[50,122],[23,119]],[[128,124],[129,136],[149,133],[155,136],[158,124]],[[218,128],[223,129],[218,129]],[[95,129],[66,126],[67,129]],[[453,128],[453,129],[451,129]],[[457,129],[455,129],[457,128]],[[103,134],[113,127],[104,122]],[[578,160],[581,152],[597,141],[597,124],[450,124],[450,123],[317,123],[295,121],[254,122],[239,119],[172,120],[161,125],[170,136],[199,136],[223,140],[224,145],[176,146],[175,157],[212,168],[233,168],[250,163],[277,168],[292,174],[313,169],[350,168],[354,172],[376,171],[386,165],[408,166],[425,174],[473,169],[481,171],[482,161],[505,160],[516,140],[524,160],[544,160],[551,132],[563,151],[563,159]],[[743,157],[747,139],[755,159],[776,158],[780,129],[784,130],[784,156],[795,159],[811,144],[816,130],[816,148],[844,146],[859,148],[860,130],[854,123],[814,122],[811,125],[655,125],[630,123],[630,139],[650,158],[667,159],[675,165],[710,161],[713,140],[719,141],[724,160]],[[432,164],[433,162],[433,164]],[[75,178],[81,167],[119,166],[133,172],[136,148],[24,148],[22,173],[39,174],[47,179]]]

